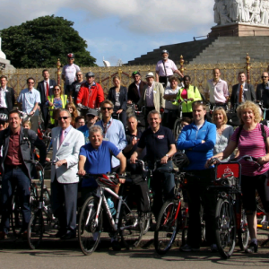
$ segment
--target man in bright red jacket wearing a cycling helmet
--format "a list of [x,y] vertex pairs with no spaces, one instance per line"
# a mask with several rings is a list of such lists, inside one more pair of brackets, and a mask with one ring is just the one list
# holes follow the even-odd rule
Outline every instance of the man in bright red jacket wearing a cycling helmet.
[[100,108],[100,103],[105,100],[101,85],[94,82],[92,72],[86,74],[86,81],[77,94],[76,104],[78,107]]

